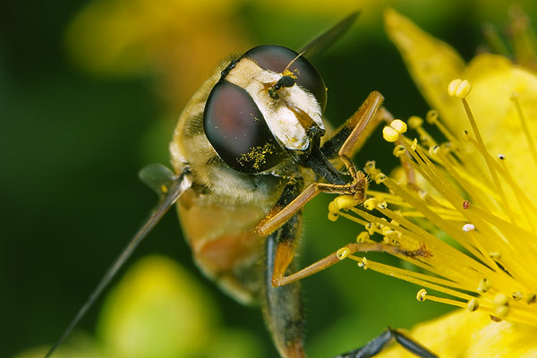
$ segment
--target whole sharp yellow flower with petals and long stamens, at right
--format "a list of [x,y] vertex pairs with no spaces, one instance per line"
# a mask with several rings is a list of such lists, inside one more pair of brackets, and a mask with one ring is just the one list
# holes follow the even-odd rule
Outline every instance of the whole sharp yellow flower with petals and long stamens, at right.
[[[416,116],[407,121],[408,132],[402,121],[385,128],[405,180],[370,162],[366,173],[388,192],[371,190],[363,208],[346,197],[330,204],[329,218],[346,217],[365,228],[338,257],[436,292],[420,290],[419,301],[463,308],[413,329],[412,336],[439,356],[536,356],[537,76],[499,55],[465,64],[394,11],[386,24],[435,108],[427,122],[446,141],[435,141]],[[371,240],[373,234],[382,240]],[[416,269],[356,251],[386,251]],[[412,355],[395,347],[380,356]]]

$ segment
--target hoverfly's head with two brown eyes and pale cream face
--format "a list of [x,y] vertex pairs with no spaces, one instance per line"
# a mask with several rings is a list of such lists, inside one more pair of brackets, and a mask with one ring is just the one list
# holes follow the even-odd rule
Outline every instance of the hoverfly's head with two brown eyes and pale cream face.
[[260,173],[319,141],[326,102],[325,83],[303,56],[255,47],[222,72],[207,100],[204,129],[228,166]]

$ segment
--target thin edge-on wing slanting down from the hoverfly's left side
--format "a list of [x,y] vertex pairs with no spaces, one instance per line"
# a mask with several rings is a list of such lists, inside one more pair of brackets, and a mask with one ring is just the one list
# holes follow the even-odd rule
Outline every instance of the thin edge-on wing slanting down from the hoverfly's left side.
[[151,211],[149,218],[145,221],[143,226],[132,236],[131,241],[124,248],[124,251],[115,259],[114,264],[108,268],[105,275],[101,278],[98,285],[88,297],[88,300],[81,306],[74,319],[69,326],[65,328],[64,333],[55,342],[45,355],[45,358],[54,353],[55,349],[64,342],[64,339],[69,336],[72,328],[75,328],[78,322],[84,317],[84,314],[90,309],[90,307],[98,299],[98,296],[108,286],[112,278],[115,277],[117,271],[124,265],[125,261],[131,256],[132,252],[141,243],[141,241],[149,234],[149,232],[158,224],[158,221],[166,214],[166,211],[170,209],[175,201],[192,185],[192,179],[190,173],[185,170],[181,175],[175,176],[174,173],[166,166],[160,164],[151,164],[141,169],[141,180],[147,183],[149,187],[155,190],[159,195],[158,204]]

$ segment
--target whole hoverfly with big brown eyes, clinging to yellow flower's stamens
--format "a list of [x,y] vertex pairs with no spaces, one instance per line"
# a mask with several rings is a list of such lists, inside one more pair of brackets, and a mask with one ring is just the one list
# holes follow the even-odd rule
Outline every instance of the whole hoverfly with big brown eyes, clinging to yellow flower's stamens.
[[[254,47],[221,64],[201,85],[175,127],[170,144],[175,173],[161,165],[141,170],[141,180],[160,195],[156,209],[46,357],[175,202],[200,269],[237,301],[262,302],[282,357],[306,356],[298,280],[338,260],[334,252],[295,270],[302,208],[320,192],[365,200],[367,178],[350,158],[380,121],[392,119],[381,107],[382,95],[373,91],[345,124],[324,137],[327,88],[306,58],[345,33],[357,16],[352,13],[297,52],[277,45]],[[341,164],[350,180],[338,170]],[[388,328],[340,357],[371,357],[393,339],[421,357],[436,356]]]

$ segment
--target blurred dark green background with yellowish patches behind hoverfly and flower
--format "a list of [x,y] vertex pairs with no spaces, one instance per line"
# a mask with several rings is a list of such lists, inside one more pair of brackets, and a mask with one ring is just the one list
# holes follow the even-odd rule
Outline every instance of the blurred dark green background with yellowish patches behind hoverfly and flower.
[[[534,2],[518,3],[535,18]],[[510,5],[482,0],[3,4],[0,356],[51,345],[63,331],[156,202],[138,182],[139,168],[167,163],[167,141],[184,102],[228,53],[260,43],[299,47],[358,7],[362,16],[353,30],[315,63],[329,89],[327,117],[343,122],[371,90],[380,90],[398,117],[424,115],[428,107],[383,30],[381,12],[388,4],[452,44],[465,60],[484,43],[483,21],[506,33]],[[376,134],[355,161],[362,166],[368,159],[383,168],[396,164],[390,146]],[[305,209],[303,265],[354,240],[361,229],[342,220],[328,222],[329,200],[320,196]],[[175,215],[162,220],[127,266],[141,265],[136,261],[153,254],[166,255],[189,272],[159,259],[171,265],[172,276],[193,277],[172,279],[174,292],[184,290],[177,286],[181,283],[196,286],[208,302],[199,316],[208,321],[200,324],[215,344],[205,356],[227,355],[230,349],[243,349],[234,356],[275,356],[260,311],[234,303],[192,263]],[[121,276],[107,294],[119,295],[127,285],[130,278]],[[313,358],[353,349],[388,325],[409,328],[447,310],[415,301],[414,286],[347,263],[303,280],[303,287]],[[97,317],[107,315],[100,311],[113,301],[108,297],[103,308],[100,300],[90,310],[64,346],[64,356],[96,356],[102,349],[95,343]],[[109,337],[102,322],[110,317],[99,319],[99,339]],[[244,341],[243,348],[232,345],[234,340]],[[73,346],[81,347],[77,354],[69,351]]]

